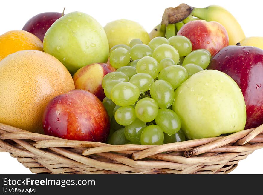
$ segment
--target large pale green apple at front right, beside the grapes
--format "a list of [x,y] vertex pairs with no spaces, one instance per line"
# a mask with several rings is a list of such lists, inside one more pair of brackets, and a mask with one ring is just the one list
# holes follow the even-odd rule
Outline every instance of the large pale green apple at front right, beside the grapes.
[[175,91],[172,110],[181,118],[188,139],[244,130],[246,105],[241,89],[227,74],[203,70]]

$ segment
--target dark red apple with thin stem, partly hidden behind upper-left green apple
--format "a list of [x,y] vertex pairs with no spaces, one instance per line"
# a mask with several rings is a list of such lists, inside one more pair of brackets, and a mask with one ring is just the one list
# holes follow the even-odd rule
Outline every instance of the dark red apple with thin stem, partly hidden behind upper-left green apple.
[[27,23],[24,25],[22,30],[30,32],[36,35],[42,42],[45,36],[45,33],[49,27],[60,17],[63,13],[58,12],[44,12],[39,13],[36,16],[30,18]]

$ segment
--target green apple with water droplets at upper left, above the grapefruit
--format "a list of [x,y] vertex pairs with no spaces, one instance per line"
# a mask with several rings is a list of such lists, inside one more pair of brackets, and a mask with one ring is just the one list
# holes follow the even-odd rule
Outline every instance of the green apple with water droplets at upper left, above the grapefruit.
[[82,12],[71,12],[56,20],[45,34],[43,48],[72,74],[85,65],[105,63],[109,56],[103,27]]

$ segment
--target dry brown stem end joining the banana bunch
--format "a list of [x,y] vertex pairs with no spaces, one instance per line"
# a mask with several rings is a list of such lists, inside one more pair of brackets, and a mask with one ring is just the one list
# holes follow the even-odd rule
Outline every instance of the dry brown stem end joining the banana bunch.
[[163,18],[161,24],[175,24],[183,21],[189,15],[191,15],[194,7],[191,7],[187,4],[180,4],[177,7],[169,7],[164,10]]

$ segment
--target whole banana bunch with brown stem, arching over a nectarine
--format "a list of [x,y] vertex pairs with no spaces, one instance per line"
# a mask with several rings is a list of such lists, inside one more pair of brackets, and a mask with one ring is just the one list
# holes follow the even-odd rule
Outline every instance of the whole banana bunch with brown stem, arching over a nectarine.
[[229,45],[236,45],[246,37],[236,18],[225,8],[218,5],[197,8],[187,4],[180,4],[178,7],[169,7],[165,10],[162,22],[152,30],[150,39],[156,36],[165,37],[166,26],[169,24],[174,23],[176,30],[179,31],[185,23],[200,19],[208,22],[216,21],[222,24],[227,30]]

